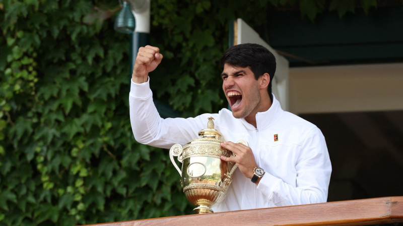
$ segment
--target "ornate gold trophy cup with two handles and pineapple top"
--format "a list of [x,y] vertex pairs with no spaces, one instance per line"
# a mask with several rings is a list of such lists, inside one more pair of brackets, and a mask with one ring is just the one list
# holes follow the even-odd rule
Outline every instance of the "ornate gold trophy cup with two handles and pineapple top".
[[[181,176],[180,184],[187,200],[196,205],[195,213],[211,213],[212,205],[220,203],[227,195],[238,165],[220,159],[221,155],[235,156],[231,151],[221,147],[221,132],[214,129],[213,118],[209,118],[207,129],[198,132],[199,139],[191,140],[182,148],[174,144],[169,150],[169,157]],[[238,141],[247,146],[244,140]],[[174,160],[182,162],[182,171]]]

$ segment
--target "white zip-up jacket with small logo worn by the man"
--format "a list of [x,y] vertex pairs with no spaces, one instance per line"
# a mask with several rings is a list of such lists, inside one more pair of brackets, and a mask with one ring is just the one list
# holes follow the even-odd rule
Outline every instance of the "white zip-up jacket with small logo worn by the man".
[[246,140],[265,171],[256,186],[236,170],[227,197],[213,206],[215,212],[326,202],[331,164],[324,137],[315,125],[284,111],[275,97],[270,109],[257,113],[257,128],[225,108],[218,114],[162,119],[149,81],[131,82],[130,87],[130,122],[138,142],[166,149],[184,145],[199,138],[213,117],[215,129],[223,134],[220,140]]

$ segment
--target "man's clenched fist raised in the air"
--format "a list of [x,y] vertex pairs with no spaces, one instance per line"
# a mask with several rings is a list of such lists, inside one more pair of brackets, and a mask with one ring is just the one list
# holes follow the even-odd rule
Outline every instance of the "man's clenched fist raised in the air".
[[133,68],[133,74],[131,80],[134,83],[147,82],[148,73],[154,71],[161,63],[163,55],[160,53],[158,47],[146,45],[140,47],[137,53],[135,66]]

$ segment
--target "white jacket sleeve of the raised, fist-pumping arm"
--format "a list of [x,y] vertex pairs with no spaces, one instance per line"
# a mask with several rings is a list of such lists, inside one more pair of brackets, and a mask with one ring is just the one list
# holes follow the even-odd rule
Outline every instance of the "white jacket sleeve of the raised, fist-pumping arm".
[[141,84],[131,79],[130,82],[130,124],[136,141],[169,149],[175,143],[183,145],[198,137],[198,131],[203,129],[203,116],[162,119],[153,102],[150,78]]

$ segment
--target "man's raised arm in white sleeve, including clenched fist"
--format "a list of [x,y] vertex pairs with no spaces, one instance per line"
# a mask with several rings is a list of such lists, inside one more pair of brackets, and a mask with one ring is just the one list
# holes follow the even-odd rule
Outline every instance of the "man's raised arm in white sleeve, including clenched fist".
[[130,123],[139,143],[170,148],[175,143],[185,144],[196,138],[198,131],[207,125],[209,116],[189,119],[160,117],[153,102],[148,75],[158,67],[162,58],[158,47],[147,45],[139,48],[129,93]]

